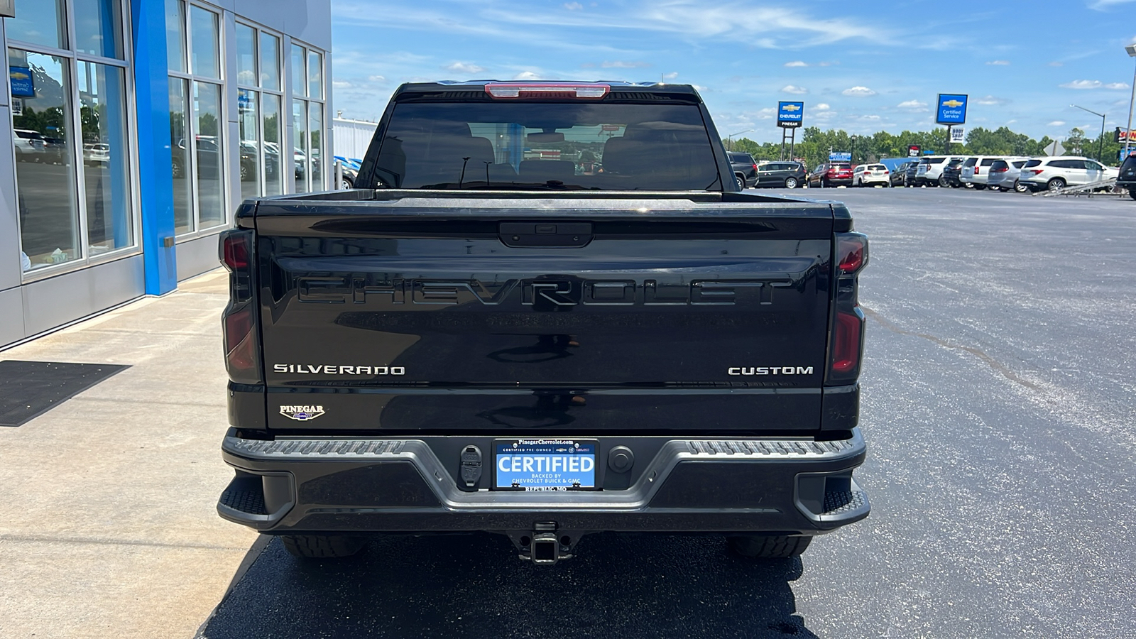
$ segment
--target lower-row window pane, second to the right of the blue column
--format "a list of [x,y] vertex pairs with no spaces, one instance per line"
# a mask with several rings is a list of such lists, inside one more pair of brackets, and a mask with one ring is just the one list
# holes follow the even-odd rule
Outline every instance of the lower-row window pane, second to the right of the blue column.
[[225,140],[220,119],[220,85],[193,83],[193,123],[197,127],[198,229],[225,222]]

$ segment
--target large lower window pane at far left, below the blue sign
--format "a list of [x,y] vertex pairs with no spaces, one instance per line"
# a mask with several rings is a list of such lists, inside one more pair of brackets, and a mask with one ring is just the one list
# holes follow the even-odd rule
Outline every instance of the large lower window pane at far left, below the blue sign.
[[18,97],[22,108],[11,118],[20,262],[24,271],[34,271],[82,257],[70,83],[64,58],[9,49],[8,64],[30,69],[34,84],[32,96]]

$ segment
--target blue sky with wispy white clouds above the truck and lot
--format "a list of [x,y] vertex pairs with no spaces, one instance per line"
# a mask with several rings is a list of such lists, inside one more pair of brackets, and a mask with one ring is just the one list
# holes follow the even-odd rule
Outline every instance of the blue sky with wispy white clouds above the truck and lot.
[[[1041,139],[1126,126],[1136,0],[332,0],[333,103],[377,121],[403,82],[693,84],[725,138],[779,141],[778,100],[804,126],[934,126],[938,93],[967,127]],[[747,131],[752,130],[752,131]]]

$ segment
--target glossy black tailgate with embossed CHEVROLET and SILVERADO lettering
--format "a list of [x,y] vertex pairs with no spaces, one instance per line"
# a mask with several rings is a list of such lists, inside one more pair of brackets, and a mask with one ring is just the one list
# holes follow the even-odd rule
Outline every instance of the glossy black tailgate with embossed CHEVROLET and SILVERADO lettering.
[[819,429],[828,205],[314,204],[256,216],[270,429]]

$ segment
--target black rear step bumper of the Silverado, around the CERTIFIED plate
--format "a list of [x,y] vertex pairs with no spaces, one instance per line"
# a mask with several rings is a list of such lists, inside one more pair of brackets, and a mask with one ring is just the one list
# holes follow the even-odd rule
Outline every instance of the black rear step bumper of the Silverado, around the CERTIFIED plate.
[[[603,490],[556,493],[460,489],[454,479],[460,459],[449,459],[449,451],[493,440],[482,439],[265,441],[231,431],[222,450],[236,476],[217,511],[270,534],[508,532],[552,523],[578,536],[819,534],[862,520],[870,508],[852,479],[866,453],[859,430],[836,441],[593,438],[602,471],[596,484]],[[635,451],[629,471],[608,467],[616,446]]]

